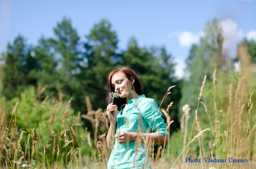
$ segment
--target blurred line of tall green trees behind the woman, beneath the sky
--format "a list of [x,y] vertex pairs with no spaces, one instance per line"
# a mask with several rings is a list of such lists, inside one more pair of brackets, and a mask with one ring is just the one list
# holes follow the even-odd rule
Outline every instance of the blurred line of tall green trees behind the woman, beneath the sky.
[[[184,104],[190,104],[192,113],[196,110],[204,75],[210,83],[215,69],[234,73],[234,62],[240,60],[238,57],[231,59],[223,49],[224,37],[218,23],[213,19],[206,24],[204,37],[192,45],[186,59],[185,79],[178,80],[174,75],[173,56],[164,46],[140,47],[136,38],[131,37],[127,49],[120,50],[116,31],[104,19],[84,35],[86,41],[81,41],[71,20],[64,18],[54,28],[54,37],[41,37],[37,44],[30,45],[25,37],[18,35],[13,43],[8,43],[1,58],[4,64],[0,65],[2,94],[6,100],[11,100],[20,97],[29,86],[47,85],[42,100],[46,96],[57,98],[62,91],[64,99],[73,97],[75,112],[86,114],[85,97],[90,97],[95,110],[105,109],[106,81],[110,71],[129,66],[140,76],[146,97],[154,98],[158,104],[167,89],[176,85],[162,103],[165,109],[174,102],[169,113],[175,121],[171,130],[174,131],[179,128],[178,119],[183,114]],[[256,42],[244,39],[241,44],[248,48],[252,63],[256,63]],[[207,102],[207,97],[202,99]]]

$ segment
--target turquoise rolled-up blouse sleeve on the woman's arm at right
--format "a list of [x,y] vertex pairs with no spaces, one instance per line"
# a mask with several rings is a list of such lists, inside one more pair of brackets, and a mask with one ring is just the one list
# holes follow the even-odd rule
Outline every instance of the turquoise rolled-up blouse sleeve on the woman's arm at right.
[[[158,132],[160,134],[168,136],[168,133],[166,132],[166,124],[164,123],[164,119],[162,118],[162,112],[158,112],[158,105],[156,103],[156,100],[152,98],[147,98],[147,102],[144,104],[144,106],[145,107],[142,111],[142,117],[148,123],[150,128],[153,129],[154,132]],[[154,125],[155,118],[156,123]]]

